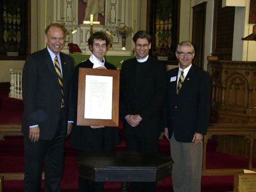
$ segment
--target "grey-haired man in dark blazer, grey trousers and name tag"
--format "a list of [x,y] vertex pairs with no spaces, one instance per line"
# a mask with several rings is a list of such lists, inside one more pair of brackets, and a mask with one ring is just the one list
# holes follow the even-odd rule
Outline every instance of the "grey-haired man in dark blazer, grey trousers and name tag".
[[200,191],[202,140],[209,125],[211,79],[192,65],[195,49],[181,42],[176,49],[179,67],[167,74],[164,133],[170,139],[173,191]]

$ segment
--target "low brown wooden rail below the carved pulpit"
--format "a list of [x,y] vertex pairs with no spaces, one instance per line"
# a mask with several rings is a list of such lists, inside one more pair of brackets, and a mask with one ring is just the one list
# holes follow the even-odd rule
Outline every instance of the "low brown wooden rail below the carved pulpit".
[[[228,140],[228,138],[231,140]],[[238,147],[237,151],[242,152],[242,150],[244,150],[242,153],[248,154],[248,164],[246,169],[256,170],[256,168],[252,166],[253,157],[256,157],[254,152],[255,145],[253,147],[253,143],[255,143],[256,140],[256,124],[213,124],[212,127],[209,127],[207,134],[204,137],[203,175],[234,175],[234,173],[242,173],[244,168],[206,168],[206,150],[209,139],[217,140],[218,145],[221,145],[219,150],[223,153],[236,151],[236,148],[232,147],[232,145],[236,143],[238,146],[239,143],[241,143],[241,140],[247,140],[248,144],[246,146],[242,145],[241,147]]]

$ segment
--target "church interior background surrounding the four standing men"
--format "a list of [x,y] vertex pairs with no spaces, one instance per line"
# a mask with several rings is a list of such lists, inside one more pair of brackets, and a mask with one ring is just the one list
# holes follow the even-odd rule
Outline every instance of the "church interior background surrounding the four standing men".
[[[92,31],[106,31],[106,61],[119,70],[136,56],[136,31],[152,35],[150,55],[168,70],[178,67],[177,44],[192,42],[193,65],[209,72],[212,83],[202,191],[256,191],[256,173],[244,173],[256,172],[255,0],[8,0],[0,13],[0,192],[23,191],[22,68],[29,54],[45,48],[44,30],[54,22],[67,29],[62,52],[75,65],[89,58]],[[114,150],[123,151],[122,122],[118,128],[122,141]],[[77,191],[77,152],[68,141],[61,189]],[[159,138],[159,153],[170,155],[169,144]],[[120,191],[120,182],[107,182],[105,191]],[[172,191],[171,177],[157,182],[157,191]]]

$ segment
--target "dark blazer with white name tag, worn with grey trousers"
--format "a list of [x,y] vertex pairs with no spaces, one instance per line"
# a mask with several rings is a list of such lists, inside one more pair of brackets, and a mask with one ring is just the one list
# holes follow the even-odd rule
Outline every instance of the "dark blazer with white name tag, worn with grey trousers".
[[[191,142],[195,132],[206,134],[211,111],[211,79],[207,72],[194,67],[189,72],[177,95],[178,68],[167,73],[164,127],[168,127],[177,141]],[[176,77],[176,81],[170,81]]]

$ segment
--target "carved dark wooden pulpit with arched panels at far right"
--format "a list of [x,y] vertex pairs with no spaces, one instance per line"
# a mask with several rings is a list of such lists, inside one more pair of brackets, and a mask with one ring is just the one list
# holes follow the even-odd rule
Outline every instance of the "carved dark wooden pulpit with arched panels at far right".
[[209,60],[215,123],[256,122],[256,62]]

